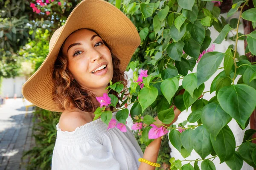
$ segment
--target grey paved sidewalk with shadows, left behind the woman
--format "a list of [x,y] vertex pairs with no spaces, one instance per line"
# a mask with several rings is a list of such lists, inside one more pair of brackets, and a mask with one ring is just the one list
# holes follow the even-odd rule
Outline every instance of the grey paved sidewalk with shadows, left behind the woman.
[[32,134],[32,107],[25,118],[22,99],[7,99],[0,108],[0,170],[26,170],[29,158],[23,151],[35,146]]

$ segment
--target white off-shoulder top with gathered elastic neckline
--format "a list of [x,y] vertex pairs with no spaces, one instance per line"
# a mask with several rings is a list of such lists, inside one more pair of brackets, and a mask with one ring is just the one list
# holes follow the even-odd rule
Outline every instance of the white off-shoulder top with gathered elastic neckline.
[[116,127],[107,130],[107,125],[97,119],[72,132],[62,131],[58,124],[56,129],[52,170],[137,170],[138,159],[143,157],[128,126],[127,132]]

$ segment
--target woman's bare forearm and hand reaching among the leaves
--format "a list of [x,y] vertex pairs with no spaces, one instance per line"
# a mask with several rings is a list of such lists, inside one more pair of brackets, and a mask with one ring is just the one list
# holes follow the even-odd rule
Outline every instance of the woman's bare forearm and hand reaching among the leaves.
[[[180,115],[181,111],[179,109],[175,109],[174,111],[174,114],[175,114],[175,118],[174,120],[172,121],[171,124],[169,125],[166,125],[166,126],[170,126],[172,125],[174,122],[176,122],[178,116]],[[163,124],[158,118],[157,116],[154,118],[157,120],[157,122],[154,122],[154,124]],[[160,127],[160,125],[156,125],[157,127]],[[157,157],[158,157],[158,153],[159,153],[159,150],[160,150],[160,146],[161,146],[161,142],[162,142],[162,139],[159,137],[157,139],[154,139],[153,142],[151,142],[145,149],[145,152],[144,152],[144,155],[143,155],[143,158],[148,160],[148,161],[151,161],[151,162],[157,162]],[[144,162],[141,162],[140,164],[140,167],[138,170],[155,170],[156,167],[153,167],[149,164],[146,164]]]

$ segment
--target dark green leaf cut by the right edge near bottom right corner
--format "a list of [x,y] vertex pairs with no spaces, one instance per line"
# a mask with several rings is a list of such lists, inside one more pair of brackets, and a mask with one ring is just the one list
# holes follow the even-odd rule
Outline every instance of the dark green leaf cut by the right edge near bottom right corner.
[[253,150],[256,148],[255,143],[244,142],[238,148],[240,156],[246,161],[247,164],[256,168],[256,165],[253,162]]

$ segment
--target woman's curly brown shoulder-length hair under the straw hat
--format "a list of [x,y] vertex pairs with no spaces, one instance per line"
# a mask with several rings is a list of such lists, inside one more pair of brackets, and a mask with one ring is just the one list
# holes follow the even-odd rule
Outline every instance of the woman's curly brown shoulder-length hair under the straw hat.
[[[90,28],[82,29],[88,29],[96,33],[96,31]],[[97,35],[99,36],[99,34]],[[53,100],[58,105],[58,108],[63,111],[65,109],[75,110],[78,108],[81,111],[93,112],[95,111],[96,107],[93,105],[92,98],[96,98],[96,96],[93,95],[90,91],[81,88],[81,85],[79,85],[75,79],[72,80],[70,77],[71,73],[68,70],[68,59],[62,55],[62,49],[66,40],[62,44],[58,57],[54,63],[54,69],[52,73],[52,79],[54,83],[52,92]],[[113,78],[111,81],[113,83],[122,81],[121,83],[124,85],[125,91],[127,91],[128,80],[125,79],[125,76],[127,77],[127,75],[119,68],[120,60],[112,53],[111,48],[104,40],[103,43],[111,51],[113,64]],[[118,97],[118,99],[120,99],[119,94],[116,91],[111,90],[109,94],[113,94]],[[117,107],[119,107],[119,104]],[[112,109],[113,108],[111,107],[111,110]]]

